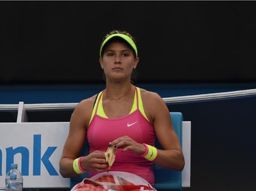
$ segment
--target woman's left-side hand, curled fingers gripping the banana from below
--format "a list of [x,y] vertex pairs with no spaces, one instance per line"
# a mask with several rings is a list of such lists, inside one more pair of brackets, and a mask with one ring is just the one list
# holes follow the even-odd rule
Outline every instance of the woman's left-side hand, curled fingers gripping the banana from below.
[[80,160],[82,169],[103,172],[108,166],[104,152],[95,151]]

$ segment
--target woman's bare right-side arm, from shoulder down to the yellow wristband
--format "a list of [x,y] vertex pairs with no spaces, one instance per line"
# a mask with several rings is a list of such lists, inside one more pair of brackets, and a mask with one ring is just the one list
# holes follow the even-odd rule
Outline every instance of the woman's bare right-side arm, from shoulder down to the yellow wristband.
[[152,122],[156,137],[163,148],[163,150],[158,150],[158,156],[154,162],[167,169],[182,171],[185,164],[182,147],[171,124],[167,105],[154,92],[145,91],[142,95],[144,95],[145,113]]

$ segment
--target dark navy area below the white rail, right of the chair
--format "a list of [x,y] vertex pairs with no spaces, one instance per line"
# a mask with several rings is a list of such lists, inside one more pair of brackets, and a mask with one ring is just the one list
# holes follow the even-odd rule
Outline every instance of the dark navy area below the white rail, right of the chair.
[[255,96],[169,109],[191,120],[191,187],[184,191],[255,190]]

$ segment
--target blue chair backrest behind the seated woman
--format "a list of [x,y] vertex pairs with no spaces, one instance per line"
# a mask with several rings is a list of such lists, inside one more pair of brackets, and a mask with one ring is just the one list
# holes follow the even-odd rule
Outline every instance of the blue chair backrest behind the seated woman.
[[[173,124],[173,128],[177,133],[177,136],[182,144],[182,121],[183,116],[180,112],[170,112],[171,121]],[[158,140],[156,139],[156,147],[162,148]],[[89,153],[89,145],[87,140],[85,141],[83,150],[79,154],[79,156],[85,156]],[[163,169],[158,165],[154,164],[154,175],[155,175],[155,185],[156,190],[182,190],[182,173],[180,171],[172,171],[169,169]],[[78,184],[85,177],[87,177],[87,173],[83,173],[79,175],[79,177],[74,177],[70,179],[70,188]]]

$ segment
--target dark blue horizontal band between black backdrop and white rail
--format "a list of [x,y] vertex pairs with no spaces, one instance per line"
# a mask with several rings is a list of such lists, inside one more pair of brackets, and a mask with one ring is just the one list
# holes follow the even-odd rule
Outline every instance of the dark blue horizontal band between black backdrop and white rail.
[[[136,84],[158,92],[161,97],[207,94],[256,88],[252,84]],[[104,89],[104,84],[11,84],[0,85],[0,104],[24,103],[79,103]]]

